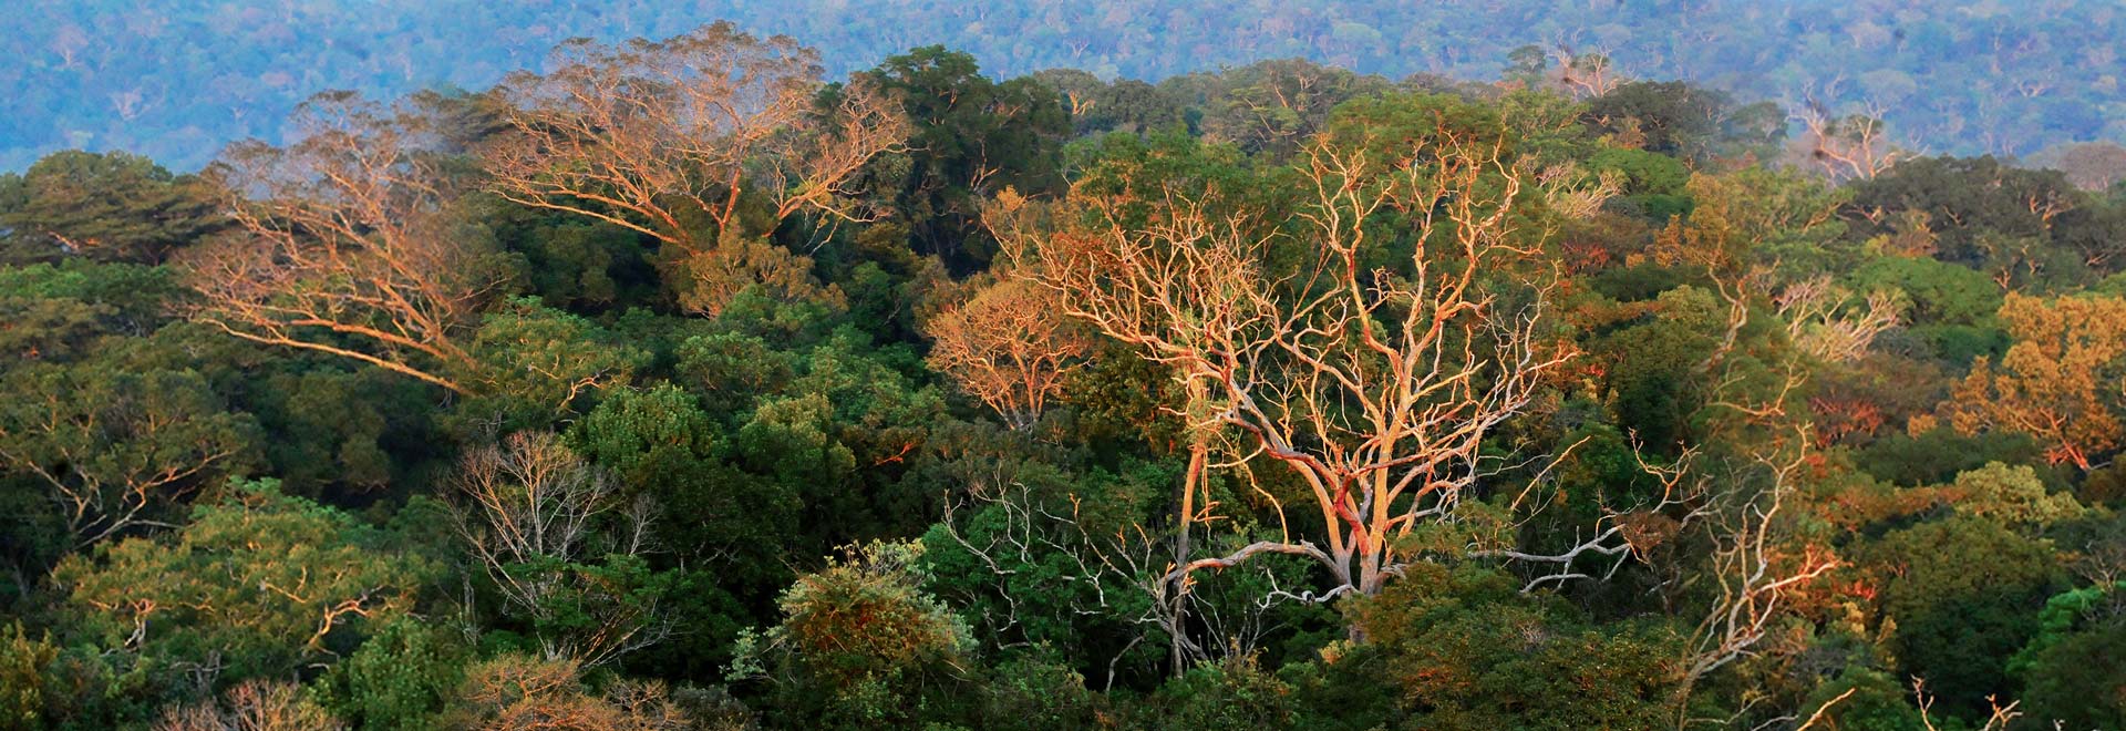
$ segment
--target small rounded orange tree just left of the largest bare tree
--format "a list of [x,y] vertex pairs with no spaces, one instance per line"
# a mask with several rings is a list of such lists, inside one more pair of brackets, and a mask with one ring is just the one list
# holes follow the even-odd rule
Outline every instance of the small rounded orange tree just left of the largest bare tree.
[[1065,378],[1093,348],[1057,308],[1052,291],[1016,278],[982,287],[963,306],[933,317],[927,332],[931,368],[997,410],[1012,429],[1040,421],[1048,400],[1063,393]]

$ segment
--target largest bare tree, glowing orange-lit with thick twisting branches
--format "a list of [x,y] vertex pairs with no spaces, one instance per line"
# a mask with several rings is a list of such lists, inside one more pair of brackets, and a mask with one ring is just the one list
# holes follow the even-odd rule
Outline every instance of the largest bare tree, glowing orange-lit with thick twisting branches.
[[1271,210],[1216,215],[1233,196],[1216,187],[1086,183],[1054,232],[1008,210],[995,227],[1065,312],[1193,387],[1195,429],[1235,429],[1244,453],[1307,487],[1312,540],[1261,540],[1178,576],[1284,552],[1318,561],[1331,597],[1371,595],[1412,561],[1397,540],[1454,514],[1484,436],[1569,351],[1546,340],[1550,283],[1524,268],[1541,246],[1520,208],[1533,189],[1497,119],[1354,102],[1295,168],[1288,232],[1263,223]]

